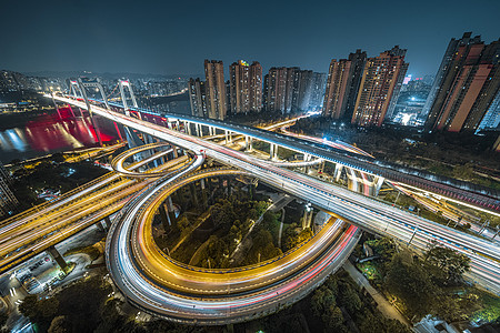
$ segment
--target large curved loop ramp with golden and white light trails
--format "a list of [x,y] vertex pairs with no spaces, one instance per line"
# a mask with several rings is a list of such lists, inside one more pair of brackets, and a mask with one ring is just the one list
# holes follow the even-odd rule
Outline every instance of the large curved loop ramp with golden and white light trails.
[[227,324],[272,313],[307,295],[358,242],[356,226],[330,219],[311,240],[252,266],[209,270],[174,261],[152,240],[156,211],[181,186],[222,174],[247,172],[220,168],[163,178],[120,211],[108,235],[107,264],[136,306],[197,324]]

